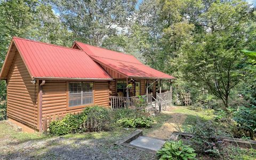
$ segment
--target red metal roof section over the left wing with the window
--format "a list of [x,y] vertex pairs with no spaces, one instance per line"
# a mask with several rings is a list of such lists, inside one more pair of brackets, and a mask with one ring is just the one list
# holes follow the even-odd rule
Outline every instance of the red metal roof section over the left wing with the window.
[[13,41],[34,78],[111,79],[84,51],[17,37]]

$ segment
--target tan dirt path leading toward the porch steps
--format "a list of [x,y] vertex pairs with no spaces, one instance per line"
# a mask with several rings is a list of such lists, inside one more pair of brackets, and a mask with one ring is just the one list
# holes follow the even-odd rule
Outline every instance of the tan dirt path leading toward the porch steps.
[[165,122],[159,129],[147,133],[147,136],[157,137],[162,139],[169,139],[171,137],[171,133],[173,131],[177,131],[175,127],[177,125],[181,127],[181,125],[183,124],[183,122],[187,117],[184,114],[174,113],[173,112],[174,109],[176,108],[172,107],[170,109],[167,109],[167,111],[162,111],[162,114],[171,115],[171,119]]

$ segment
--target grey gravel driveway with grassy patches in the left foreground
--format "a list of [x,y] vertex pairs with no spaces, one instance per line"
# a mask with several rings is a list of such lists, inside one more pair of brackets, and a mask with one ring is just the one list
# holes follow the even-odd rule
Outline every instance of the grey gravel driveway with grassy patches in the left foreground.
[[83,133],[70,137],[17,140],[11,131],[10,135],[0,135],[0,159],[155,159],[154,154],[146,151],[114,145],[116,140],[131,131],[122,132],[125,134],[107,132],[106,136],[94,137],[90,133],[88,138],[88,133]]

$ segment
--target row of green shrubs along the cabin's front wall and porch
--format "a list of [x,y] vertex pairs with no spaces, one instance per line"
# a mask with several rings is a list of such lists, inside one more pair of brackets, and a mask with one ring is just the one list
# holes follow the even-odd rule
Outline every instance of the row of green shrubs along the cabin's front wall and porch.
[[[140,113],[140,114],[138,114]],[[140,115],[137,117],[137,115]],[[50,123],[52,135],[65,135],[78,132],[108,131],[114,126],[149,128],[154,119],[145,111],[134,109],[109,110],[99,106],[86,107],[81,113],[67,114]]]

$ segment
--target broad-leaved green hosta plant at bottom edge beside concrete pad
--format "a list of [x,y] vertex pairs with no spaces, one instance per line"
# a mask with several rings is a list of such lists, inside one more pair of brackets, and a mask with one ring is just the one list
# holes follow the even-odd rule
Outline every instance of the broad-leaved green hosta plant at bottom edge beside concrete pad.
[[159,159],[195,159],[196,154],[194,149],[183,145],[182,140],[166,141],[164,146],[157,151]]

